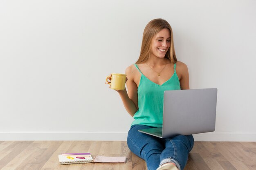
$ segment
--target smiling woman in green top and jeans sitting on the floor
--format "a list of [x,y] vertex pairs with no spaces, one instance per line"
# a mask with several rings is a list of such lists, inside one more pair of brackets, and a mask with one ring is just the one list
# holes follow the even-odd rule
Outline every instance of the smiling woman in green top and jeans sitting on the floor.
[[166,20],[155,19],[146,25],[139,59],[126,68],[126,75],[128,92],[117,92],[135,119],[128,132],[129,149],[146,161],[148,170],[183,170],[193,148],[192,135],[161,139],[138,132],[162,127],[164,91],[189,89],[188,68],[177,61],[173,32]]

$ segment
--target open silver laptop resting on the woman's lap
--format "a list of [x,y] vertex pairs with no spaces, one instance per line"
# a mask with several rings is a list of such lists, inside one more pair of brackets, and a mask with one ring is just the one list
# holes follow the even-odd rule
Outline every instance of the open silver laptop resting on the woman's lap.
[[141,129],[160,138],[215,130],[217,88],[164,92],[163,127]]

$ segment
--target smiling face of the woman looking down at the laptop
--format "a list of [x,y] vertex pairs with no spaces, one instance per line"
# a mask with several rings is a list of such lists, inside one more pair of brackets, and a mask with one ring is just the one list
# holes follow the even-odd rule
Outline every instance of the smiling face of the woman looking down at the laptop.
[[171,33],[168,29],[162,29],[152,39],[151,56],[164,58],[171,46]]

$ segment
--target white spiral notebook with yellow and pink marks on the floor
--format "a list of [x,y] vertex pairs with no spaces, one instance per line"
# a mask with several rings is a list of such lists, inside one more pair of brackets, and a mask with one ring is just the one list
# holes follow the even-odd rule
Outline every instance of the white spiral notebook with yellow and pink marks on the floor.
[[65,153],[58,155],[60,165],[93,162],[90,153]]

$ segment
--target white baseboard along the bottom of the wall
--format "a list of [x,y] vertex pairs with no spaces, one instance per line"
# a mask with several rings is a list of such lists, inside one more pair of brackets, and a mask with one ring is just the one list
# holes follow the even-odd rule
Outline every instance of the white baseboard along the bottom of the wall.
[[[256,133],[209,132],[195,141],[256,142]],[[0,132],[0,141],[126,141],[127,132]]]

